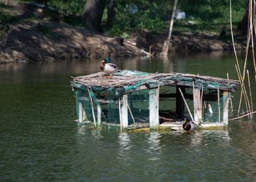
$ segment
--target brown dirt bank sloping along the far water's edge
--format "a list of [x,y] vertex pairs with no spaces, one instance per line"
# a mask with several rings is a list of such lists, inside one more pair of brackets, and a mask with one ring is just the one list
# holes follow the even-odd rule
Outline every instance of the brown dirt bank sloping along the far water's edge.
[[[120,43],[119,38],[111,38],[84,28],[72,27],[61,21],[35,20],[31,17],[42,13],[40,8],[27,6],[6,6],[19,21],[0,26],[0,63],[20,60],[81,59],[84,57],[134,57],[145,55],[151,50],[153,55],[161,52],[167,34],[141,32]],[[238,44],[244,49],[244,43]],[[144,50],[144,51],[143,51]],[[217,34],[173,33],[170,51],[201,52],[231,51],[230,41],[224,41]]]

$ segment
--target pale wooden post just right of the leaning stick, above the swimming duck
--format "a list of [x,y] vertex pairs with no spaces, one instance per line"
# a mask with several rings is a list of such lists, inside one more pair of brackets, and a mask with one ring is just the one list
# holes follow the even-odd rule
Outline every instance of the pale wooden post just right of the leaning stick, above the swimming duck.
[[202,120],[202,105],[200,99],[200,89],[193,87],[193,103],[194,103],[194,120],[195,124],[199,124]]

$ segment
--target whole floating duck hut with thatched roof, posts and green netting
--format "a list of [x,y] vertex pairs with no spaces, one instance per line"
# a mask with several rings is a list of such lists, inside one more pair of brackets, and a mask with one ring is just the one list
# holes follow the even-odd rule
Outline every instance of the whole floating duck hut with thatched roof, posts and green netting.
[[[223,127],[228,124],[230,94],[238,84],[230,79],[182,73],[123,70],[110,78],[105,75],[94,73],[71,82],[79,122],[116,124],[128,129],[180,129],[178,119],[193,108],[190,116],[200,127]],[[209,103],[214,113],[207,111]]]

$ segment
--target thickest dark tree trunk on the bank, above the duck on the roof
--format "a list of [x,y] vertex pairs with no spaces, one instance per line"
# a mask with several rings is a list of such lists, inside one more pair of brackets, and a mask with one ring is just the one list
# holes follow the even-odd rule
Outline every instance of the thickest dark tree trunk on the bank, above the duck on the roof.
[[101,31],[101,19],[103,18],[106,0],[88,0],[84,8],[84,21],[89,28]]

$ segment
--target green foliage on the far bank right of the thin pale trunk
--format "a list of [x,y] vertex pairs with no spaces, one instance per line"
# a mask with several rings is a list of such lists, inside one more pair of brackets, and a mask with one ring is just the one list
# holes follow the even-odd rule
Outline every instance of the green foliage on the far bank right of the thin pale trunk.
[[[246,1],[238,0],[232,4],[232,23],[234,27],[242,20],[246,10]],[[175,23],[178,31],[214,31],[220,32],[223,27],[229,27],[229,0],[184,0],[178,8],[186,13],[186,23]],[[192,24],[187,22],[191,21]]]

